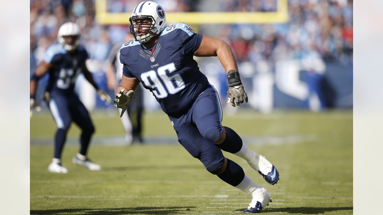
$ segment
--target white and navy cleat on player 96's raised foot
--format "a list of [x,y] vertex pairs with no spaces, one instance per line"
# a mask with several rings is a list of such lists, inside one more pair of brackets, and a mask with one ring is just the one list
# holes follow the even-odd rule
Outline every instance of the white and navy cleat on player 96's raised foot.
[[264,156],[257,156],[254,153],[252,159],[247,161],[247,163],[249,163],[255,171],[258,171],[258,173],[264,177],[268,184],[277,184],[279,180],[279,172],[277,168],[275,168],[275,166],[272,165]]

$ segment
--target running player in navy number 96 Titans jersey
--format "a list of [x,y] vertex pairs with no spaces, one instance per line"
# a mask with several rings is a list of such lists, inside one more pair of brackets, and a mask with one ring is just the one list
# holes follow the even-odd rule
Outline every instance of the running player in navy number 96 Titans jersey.
[[229,45],[196,34],[185,23],[167,26],[164,9],[154,2],[139,3],[129,20],[134,39],[120,50],[123,77],[115,107],[122,109],[122,115],[141,82],[169,116],[181,145],[210,173],[250,194],[244,213],[261,212],[271,202],[269,192],[250,180],[221,150],[244,158],[269,184],[277,183],[279,173],[264,156],[250,150],[234,130],[221,125],[218,93],[193,60],[193,56],[218,56],[229,81],[228,100],[234,107],[240,105],[247,102],[247,94]]

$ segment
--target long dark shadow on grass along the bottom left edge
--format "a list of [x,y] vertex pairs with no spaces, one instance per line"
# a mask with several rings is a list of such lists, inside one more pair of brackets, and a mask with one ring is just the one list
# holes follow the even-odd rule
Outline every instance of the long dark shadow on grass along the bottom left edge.
[[31,215],[83,214],[83,215],[122,215],[122,214],[182,214],[196,207],[126,207],[126,208],[77,208],[30,210]]

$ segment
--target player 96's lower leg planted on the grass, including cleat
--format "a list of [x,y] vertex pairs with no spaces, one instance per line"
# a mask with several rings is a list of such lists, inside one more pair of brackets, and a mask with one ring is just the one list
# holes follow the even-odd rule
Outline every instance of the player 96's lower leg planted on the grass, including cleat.
[[216,174],[224,182],[250,195],[251,202],[245,213],[260,212],[268,205],[271,199],[268,191],[251,181],[241,166],[225,158],[222,151],[214,143],[206,140],[198,129],[193,126],[181,126],[174,129],[177,132],[178,141],[192,156],[198,158],[210,173]]

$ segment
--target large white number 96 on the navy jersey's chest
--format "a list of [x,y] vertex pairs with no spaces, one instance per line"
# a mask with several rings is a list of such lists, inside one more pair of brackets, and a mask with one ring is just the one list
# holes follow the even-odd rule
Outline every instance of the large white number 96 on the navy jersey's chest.
[[[166,74],[166,70],[169,71],[169,75]],[[152,88],[152,92],[157,98],[166,98],[167,92],[175,94],[185,88],[185,82],[183,82],[180,74],[170,76],[176,70],[173,62],[157,69],[158,77],[161,78],[164,84],[161,83],[154,70],[142,73],[141,80],[144,81],[148,88]]]

